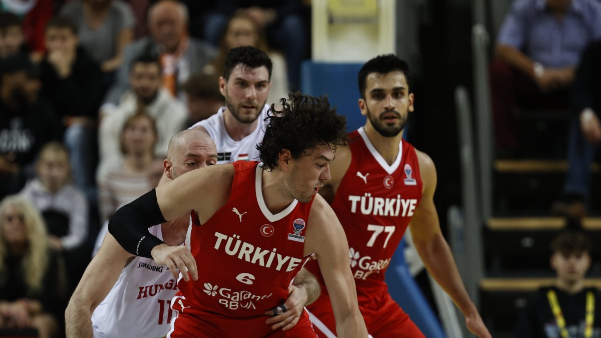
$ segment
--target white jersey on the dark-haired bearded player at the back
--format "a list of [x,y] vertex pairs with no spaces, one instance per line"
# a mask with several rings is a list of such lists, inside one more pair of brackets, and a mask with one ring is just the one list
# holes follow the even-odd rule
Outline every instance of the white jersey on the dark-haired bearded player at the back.
[[219,108],[217,114],[194,124],[189,129],[202,126],[217,146],[217,164],[229,163],[239,160],[260,161],[257,144],[263,142],[267,121],[264,121],[269,111],[265,105],[257,118],[257,129],[240,141],[234,141],[225,130],[224,109]]

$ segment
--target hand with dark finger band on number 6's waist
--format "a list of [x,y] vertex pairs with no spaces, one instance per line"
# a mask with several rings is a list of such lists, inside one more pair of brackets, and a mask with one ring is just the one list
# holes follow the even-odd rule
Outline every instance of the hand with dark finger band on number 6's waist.
[[265,323],[273,324],[271,325],[272,330],[278,330],[279,328],[281,328],[282,331],[290,330],[296,325],[299,318],[301,318],[305,303],[307,303],[307,291],[305,288],[296,287],[293,284],[290,284],[288,287],[288,298],[284,304],[282,304],[285,311],[282,313],[282,305],[273,310],[266,311],[266,315],[277,315],[267,319]]

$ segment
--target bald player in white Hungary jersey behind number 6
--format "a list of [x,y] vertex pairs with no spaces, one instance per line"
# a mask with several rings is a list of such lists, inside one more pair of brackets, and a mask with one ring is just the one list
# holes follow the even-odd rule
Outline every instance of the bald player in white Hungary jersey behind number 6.
[[[188,171],[214,165],[215,143],[204,132],[186,130],[169,141],[159,185]],[[189,215],[148,229],[169,245],[183,244]],[[177,271],[127,253],[107,233],[65,312],[67,337],[162,337],[172,318]]]

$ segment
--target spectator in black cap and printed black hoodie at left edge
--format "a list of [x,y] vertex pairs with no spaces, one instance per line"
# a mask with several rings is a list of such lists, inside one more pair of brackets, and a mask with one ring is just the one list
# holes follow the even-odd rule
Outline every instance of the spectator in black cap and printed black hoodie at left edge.
[[37,100],[37,72],[27,57],[13,55],[0,69],[0,198],[16,193],[33,176],[35,156],[60,138],[52,108]]

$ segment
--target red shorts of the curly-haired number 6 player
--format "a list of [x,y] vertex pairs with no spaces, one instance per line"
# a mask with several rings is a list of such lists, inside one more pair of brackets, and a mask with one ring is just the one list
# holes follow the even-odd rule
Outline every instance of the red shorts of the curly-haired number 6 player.
[[192,315],[178,312],[171,321],[171,330],[167,338],[222,338],[222,337],[266,337],[266,338],[317,338],[307,311],[303,311],[299,321],[288,331],[281,329],[272,331],[265,324],[267,316],[254,319],[223,318],[215,315]]

